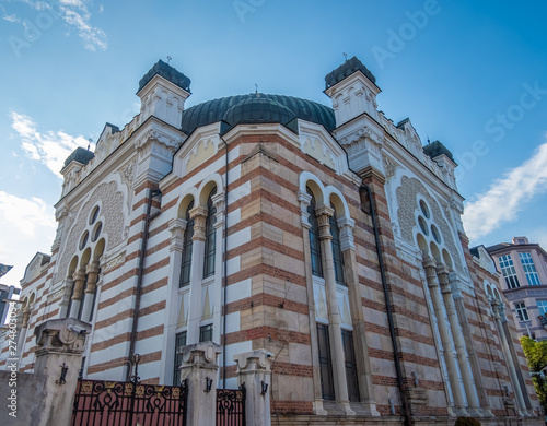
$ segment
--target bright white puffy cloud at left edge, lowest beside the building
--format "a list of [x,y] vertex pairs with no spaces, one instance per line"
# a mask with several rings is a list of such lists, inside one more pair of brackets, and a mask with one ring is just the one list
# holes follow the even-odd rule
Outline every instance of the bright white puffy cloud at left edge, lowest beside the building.
[[49,252],[57,226],[54,215],[44,200],[0,191],[0,263],[13,265],[2,284],[18,284],[36,251]]

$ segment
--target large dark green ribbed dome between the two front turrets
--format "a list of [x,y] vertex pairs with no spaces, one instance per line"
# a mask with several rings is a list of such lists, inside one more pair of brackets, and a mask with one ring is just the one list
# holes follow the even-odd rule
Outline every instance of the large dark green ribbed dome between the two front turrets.
[[224,120],[230,126],[243,122],[280,122],[294,118],[323,125],[331,131],[336,127],[331,108],[298,97],[269,94],[248,94],[222,97],[195,105],[183,111],[181,128],[189,134],[198,127]]

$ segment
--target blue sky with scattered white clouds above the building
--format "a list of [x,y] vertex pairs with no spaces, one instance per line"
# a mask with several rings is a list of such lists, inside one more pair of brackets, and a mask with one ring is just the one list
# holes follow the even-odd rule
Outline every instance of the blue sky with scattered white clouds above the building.
[[2,283],[49,252],[68,153],[128,122],[167,56],[191,79],[187,106],[255,83],[329,105],[324,76],[357,56],[379,108],[454,153],[472,245],[547,248],[546,15],[537,1],[0,0]]

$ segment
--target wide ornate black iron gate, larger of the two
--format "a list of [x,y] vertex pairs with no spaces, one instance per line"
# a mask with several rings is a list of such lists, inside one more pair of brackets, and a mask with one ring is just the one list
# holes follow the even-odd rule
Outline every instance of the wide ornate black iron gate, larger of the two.
[[187,383],[78,380],[72,426],[185,426]]

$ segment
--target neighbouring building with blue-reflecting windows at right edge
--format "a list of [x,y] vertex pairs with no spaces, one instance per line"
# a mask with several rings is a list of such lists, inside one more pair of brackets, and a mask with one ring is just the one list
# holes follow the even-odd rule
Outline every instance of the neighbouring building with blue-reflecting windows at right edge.
[[526,237],[487,250],[501,272],[500,286],[511,304],[519,333],[547,339],[547,252]]

